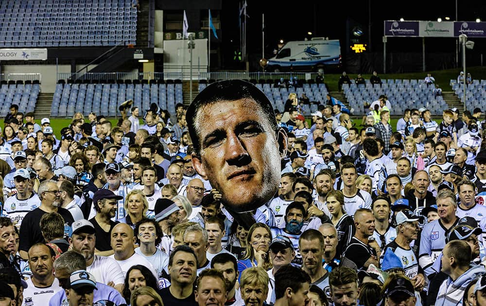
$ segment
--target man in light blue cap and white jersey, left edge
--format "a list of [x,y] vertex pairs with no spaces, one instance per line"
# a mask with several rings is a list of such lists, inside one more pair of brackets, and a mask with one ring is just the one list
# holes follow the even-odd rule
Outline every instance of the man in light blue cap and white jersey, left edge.
[[5,200],[3,210],[12,221],[17,221],[17,226],[20,226],[25,215],[40,206],[40,200],[37,194],[31,191],[29,171],[20,168],[14,172],[13,177],[17,192]]

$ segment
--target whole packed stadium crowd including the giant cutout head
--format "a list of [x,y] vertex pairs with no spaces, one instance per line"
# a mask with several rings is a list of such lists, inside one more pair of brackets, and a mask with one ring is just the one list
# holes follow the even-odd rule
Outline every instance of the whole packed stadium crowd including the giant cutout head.
[[486,305],[482,111],[304,102],[226,80],[60,139],[12,105],[0,305]]

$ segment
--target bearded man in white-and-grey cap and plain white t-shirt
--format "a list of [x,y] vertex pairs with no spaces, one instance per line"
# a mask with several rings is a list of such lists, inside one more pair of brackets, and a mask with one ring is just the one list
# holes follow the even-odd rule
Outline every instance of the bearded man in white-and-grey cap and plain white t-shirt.
[[113,284],[113,287],[121,293],[124,282],[123,272],[115,259],[94,254],[96,232],[91,222],[86,219],[74,222],[69,244],[73,251],[85,258],[87,272],[93,274],[97,281],[104,285]]

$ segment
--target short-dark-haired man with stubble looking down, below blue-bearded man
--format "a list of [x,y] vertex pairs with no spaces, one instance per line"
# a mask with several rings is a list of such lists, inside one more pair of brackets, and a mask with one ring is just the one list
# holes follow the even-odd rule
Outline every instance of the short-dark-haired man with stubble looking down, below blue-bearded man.
[[299,238],[302,255],[302,270],[311,277],[311,285],[316,285],[330,298],[329,272],[323,268],[322,261],[326,252],[324,238],[319,231],[309,229]]

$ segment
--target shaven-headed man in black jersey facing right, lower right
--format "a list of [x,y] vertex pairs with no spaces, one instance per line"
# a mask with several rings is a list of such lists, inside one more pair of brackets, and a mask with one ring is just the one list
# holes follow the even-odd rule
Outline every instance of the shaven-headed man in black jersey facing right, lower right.
[[351,243],[347,246],[344,256],[354,262],[358,270],[367,269],[370,264],[378,267],[380,247],[375,241],[370,242],[368,239],[373,236],[375,231],[375,217],[371,210],[358,209],[354,214],[354,225],[356,234],[351,238]]

